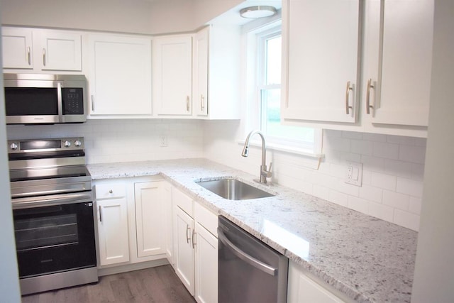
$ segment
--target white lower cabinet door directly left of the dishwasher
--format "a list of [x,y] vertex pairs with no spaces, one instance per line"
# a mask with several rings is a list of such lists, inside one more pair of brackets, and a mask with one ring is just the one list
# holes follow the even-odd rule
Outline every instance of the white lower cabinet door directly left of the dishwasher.
[[218,302],[218,239],[196,222],[196,301]]

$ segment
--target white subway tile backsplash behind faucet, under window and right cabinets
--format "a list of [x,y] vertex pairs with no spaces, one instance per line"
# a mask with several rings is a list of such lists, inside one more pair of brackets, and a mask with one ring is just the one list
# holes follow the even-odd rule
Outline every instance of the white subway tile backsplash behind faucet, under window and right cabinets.
[[[241,138],[238,121],[207,121],[205,157],[258,176],[260,148],[241,157]],[[417,231],[425,149],[421,138],[325,131],[319,170],[304,156],[277,151],[267,152],[267,164],[273,162],[273,182]],[[362,187],[345,184],[347,161],[364,164]]]

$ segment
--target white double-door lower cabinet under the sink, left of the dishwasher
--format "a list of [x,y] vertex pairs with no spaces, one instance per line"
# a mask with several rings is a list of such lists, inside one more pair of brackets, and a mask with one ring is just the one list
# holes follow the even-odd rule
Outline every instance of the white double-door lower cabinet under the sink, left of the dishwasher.
[[218,301],[218,217],[172,188],[175,272],[197,302]]

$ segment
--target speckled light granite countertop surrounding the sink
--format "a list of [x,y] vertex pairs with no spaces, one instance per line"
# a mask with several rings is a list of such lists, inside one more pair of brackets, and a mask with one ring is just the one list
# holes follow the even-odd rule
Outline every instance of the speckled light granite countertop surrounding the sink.
[[[418,233],[205,159],[87,165],[93,180],[160,175],[358,302],[410,302]],[[231,201],[195,180],[233,177],[275,197]]]

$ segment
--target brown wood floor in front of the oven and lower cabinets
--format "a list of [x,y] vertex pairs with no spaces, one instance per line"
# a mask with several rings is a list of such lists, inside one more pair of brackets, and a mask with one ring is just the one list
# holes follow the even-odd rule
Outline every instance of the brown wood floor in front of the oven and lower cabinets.
[[[1,300],[0,300],[1,301]],[[145,270],[123,272],[99,277],[99,282],[29,294],[23,303],[94,303],[94,302],[195,302],[172,266],[164,265]]]

